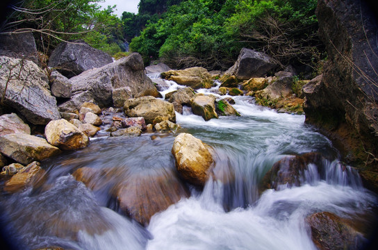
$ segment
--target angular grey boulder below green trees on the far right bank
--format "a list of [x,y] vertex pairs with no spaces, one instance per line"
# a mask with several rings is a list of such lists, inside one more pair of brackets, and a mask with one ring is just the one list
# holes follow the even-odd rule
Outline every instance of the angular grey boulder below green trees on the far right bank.
[[272,58],[265,53],[252,49],[241,49],[236,63],[224,75],[234,75],[240,80],[262,77],[274,68]]

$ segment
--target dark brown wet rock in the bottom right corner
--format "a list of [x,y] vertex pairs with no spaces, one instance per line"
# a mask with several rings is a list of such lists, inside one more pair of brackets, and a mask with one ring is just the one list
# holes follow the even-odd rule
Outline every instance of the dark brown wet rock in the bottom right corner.
[[306,218],[311,238],[321,250],[363,249],[363,237],[340,217],[329,213],[315,213]]

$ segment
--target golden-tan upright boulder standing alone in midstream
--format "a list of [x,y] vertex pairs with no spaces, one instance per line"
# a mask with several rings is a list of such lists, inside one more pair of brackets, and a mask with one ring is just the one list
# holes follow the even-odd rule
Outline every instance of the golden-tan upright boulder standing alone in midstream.
[[203,186],[208,180],[213,157],[208,145],[188,133],[180,133],[173,142],[172,154],[180,175],[193,185]]

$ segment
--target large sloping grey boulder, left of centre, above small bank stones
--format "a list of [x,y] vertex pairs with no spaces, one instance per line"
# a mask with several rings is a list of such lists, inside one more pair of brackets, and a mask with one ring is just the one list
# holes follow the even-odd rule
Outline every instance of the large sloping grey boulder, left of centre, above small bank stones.
[[158,97],[158,91],[143,69],[142,56],[131,53],[114,63],[72,77],[69,79],[72,83],[71,100],[60,105],[59,109],[67,112],[79,110],[85,101],[97,103],[101,108],[113,104],[122,107],[130,98]]

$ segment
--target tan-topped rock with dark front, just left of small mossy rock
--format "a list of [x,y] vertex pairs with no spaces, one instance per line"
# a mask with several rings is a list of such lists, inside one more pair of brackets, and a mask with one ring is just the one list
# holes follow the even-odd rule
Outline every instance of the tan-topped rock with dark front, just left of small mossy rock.
[[215,97],[197,96],[192,102],[192,112],[195,115],[202,116],[205,121],[212,118],[218,118],[215,112]]

